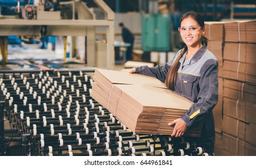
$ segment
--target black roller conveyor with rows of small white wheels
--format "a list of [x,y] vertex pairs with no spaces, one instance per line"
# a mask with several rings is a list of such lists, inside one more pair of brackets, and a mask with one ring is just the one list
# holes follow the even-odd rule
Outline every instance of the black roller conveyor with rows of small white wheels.
[[208,155],[189,137],[133,133],[90,96],[92,82],[85,71],[0,73],[0,154],[7,118],[23,155]]

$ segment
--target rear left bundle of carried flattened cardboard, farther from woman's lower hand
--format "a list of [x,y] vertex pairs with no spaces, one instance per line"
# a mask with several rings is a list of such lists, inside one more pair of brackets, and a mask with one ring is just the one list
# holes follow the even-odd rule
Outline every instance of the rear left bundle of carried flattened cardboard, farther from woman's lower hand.
[[[114,85],[143,85],[152,86],[157,88],[166,88],[165,84],[160,82],[154,77],[141,76],[139,74],[129,74],[124,71],[112,71],[96,69],[93,80],[93,92],[94,99],[99,101],[102,106],[106,107],[113,115],[116,112],[116,104],[118,97],[121,95],[121,91],[117,91]],[[112,92],[114,89],[115,92]],[[113,94],[115,99],[109,99],[110,94]]]

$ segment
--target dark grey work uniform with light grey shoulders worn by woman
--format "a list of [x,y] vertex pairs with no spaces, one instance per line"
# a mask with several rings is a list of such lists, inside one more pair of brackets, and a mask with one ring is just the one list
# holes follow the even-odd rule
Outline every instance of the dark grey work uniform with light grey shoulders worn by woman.
[[[153,76],[165,82],[169,68],[180,52],[181,50],[175,55],[173,61],[163,66],[137,67],[135,73]],[[186,122],[187,129],[203,122],[199,143],[207,143],[209,146],[208,152],[212,154],[215,143],[215,124],[212,109],[218,102],[218,60],[207,49],[206,44],[191,59],[185,61],[185,57],[186,52],[180,59],[174,91],[193,101],[194,104],[181,118]]]

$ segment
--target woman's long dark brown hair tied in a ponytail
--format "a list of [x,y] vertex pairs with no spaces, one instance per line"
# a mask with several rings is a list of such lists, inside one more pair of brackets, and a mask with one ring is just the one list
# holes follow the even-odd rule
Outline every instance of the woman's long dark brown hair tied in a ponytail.
[[[186,19],[187,17],[192,17],[195,21],[197,21],[198,25],[200,25],[201,28],[204,28],[204,19],[203,17],[195,12],[195,11],[188,11],[187,13],[183,14],[183,16],[180,19],[180,24],[181,22]],[[206,44],[207,46],[207,38],[202,35],[201,37],[201,43],[204,45]],[[177,73],[178,73],[178,68],[180,67],[180,59],[183,56],[183,54],[187,52],[187,46],[184,46],[183,49],[181,49],[180,54],[178,55],[177,59],[175,62],[172,64],[171,68],[169,69],[166,78],[165,78],[165,85],[174,91],[174,86],[177,80]]]

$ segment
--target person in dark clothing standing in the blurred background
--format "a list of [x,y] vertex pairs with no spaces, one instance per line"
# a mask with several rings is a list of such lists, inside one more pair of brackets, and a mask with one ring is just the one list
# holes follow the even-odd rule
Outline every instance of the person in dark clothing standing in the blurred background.
[[130,43],[130,46],[127,47],[127,51],[126,51],[126,60],[128,60],[128,61],[132,60],[134,36],[133,36],[132,32],[130,32],[130,30],[124,26],[124,23],[119,23],[119,28],[122,31],[122,38],[123,38],[124,43]]

